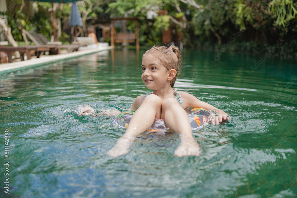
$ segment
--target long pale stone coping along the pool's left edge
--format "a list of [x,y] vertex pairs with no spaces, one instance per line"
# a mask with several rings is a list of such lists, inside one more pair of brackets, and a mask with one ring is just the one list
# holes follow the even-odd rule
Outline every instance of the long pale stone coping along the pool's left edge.
[[67,60],[73,57],[79,57],[87,54],[92,54],[104,50],[110,50],[114,47],[108,46],[108,47],[99,47],[97,49],[91,49],[91,50],[83,50],[78,52],[69,52],[69,53],[63,53],[63,54],[57,54],[57,55],[49,55],[44,56],[40,58],[34,58],[26,61],[18,61],[13,63],[7,63],[7,64],[0,64],[0,74],[15,72],[18,70],[23,70],[31,67],[36,67],[40,65],[50,64],[50,63],[56,63],[59,61]]

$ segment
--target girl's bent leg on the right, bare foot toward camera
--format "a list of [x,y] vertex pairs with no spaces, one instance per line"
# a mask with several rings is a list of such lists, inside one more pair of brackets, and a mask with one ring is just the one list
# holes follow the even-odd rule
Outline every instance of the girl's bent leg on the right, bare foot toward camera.
[[178,133],[181,139],[181,143],[174,151],[174,154],[177,156],[199,156],[201,150],[199,144],[193,138],[189,117],[175,99],[169,98],[163,101],[161,117],[163,116],[167,126]]

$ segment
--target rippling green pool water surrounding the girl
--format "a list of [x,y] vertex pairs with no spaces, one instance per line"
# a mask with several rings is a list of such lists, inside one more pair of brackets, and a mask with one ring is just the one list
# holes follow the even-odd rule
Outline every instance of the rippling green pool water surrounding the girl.
[[297,197],[296,61],[214,60],[211,51],[184,49],[175,87],[230,122],[193,131],[199,157],[176,157],[176,134],[142,135],[128,154],[108,156],[124,129],[78,111],[124,110],[151,92],[141,80],[144,52],[104,51],[0,76],[0,197]]

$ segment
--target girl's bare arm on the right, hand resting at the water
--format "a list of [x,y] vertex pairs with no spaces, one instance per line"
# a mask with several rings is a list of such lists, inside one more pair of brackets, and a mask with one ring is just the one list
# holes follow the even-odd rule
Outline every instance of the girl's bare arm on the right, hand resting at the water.
[[202,102],[200,101],[198,98],[196,98],[195,96],[188,94],[186,92],[182,92],[182,98],[184,98],[187,107],[192,107],[192,108],[203,108],[206,110],[212,110],[215,111],[217,113],[218,116],[216,116],[211,123],[212,124],[219,124],[221,122],[228,122],[229,118],[228,118],[228,113],[225,113],[224,111],[206,103],[206,102]]

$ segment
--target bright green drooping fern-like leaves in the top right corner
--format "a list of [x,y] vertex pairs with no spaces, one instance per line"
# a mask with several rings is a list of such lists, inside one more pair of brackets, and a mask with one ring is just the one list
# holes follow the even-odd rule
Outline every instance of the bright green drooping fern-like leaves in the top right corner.
[[294,19],[297,14],[297,2],[293,0],[273,0],[269,3],[268,12],[277,18],[275,26],[287,26],[291,19]]

